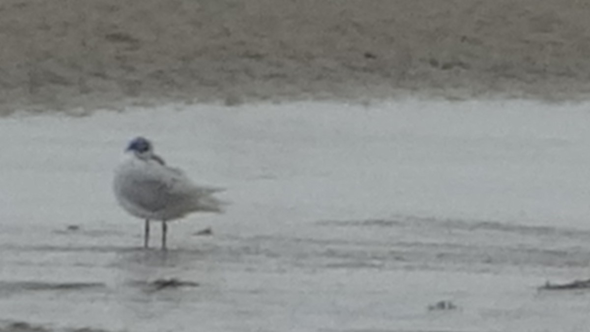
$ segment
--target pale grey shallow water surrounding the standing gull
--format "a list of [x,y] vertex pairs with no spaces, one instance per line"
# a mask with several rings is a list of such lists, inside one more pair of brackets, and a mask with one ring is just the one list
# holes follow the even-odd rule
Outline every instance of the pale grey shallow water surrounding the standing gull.
[[[588,120],[584,105],[415,100],[3,119],[0,320],[582,331],[590,294],[537,287],[587,276]],[[112,197],[136,135],[232,201],[172,223],[168,252],[158,227],[140,248],[142,222]],[[158,287],[172,278],[189,284]]]

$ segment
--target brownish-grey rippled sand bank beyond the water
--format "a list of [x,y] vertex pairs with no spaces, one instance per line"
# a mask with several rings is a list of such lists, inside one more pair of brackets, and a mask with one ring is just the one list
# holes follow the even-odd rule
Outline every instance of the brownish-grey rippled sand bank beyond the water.
[[575,0],[5,0],[1,112],[590,90]]

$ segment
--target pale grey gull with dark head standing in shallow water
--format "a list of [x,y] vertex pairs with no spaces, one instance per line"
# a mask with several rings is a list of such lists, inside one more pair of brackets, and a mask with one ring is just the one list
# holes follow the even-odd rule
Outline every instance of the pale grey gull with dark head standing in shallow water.
[[224,203],[212,196],[220,189],[197,186],[178,168],[166,166],[148,139],[133,139],[126,152],[126,160],[115,170],[114,193],[124,210],[145,219],[145,248],[150,220],[162,222],[162,249],[166,249],[167,222],[197,211],[222,212]]

